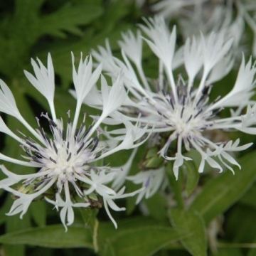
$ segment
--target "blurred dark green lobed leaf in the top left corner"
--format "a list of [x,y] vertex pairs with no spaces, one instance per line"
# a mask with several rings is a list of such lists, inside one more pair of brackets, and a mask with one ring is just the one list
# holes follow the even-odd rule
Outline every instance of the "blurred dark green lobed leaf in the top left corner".
[[[102,3],[96,0],[62,1],[46,14],[43,14],[46,0],[14,2],[14,13],[7,13],[6,16],[4,13],[4,22],[0,24],[0,70],[9,78],[21,77],[32,48],[35,52],[36,43],[39,48],[42,45],[47,48],[47,52],[52,49],[51,45],[46,47],[45,43],[39,42],[43,36],[65,37],[67,32],[82,36],[79,26],[86,26],[103,13]],[[62,45],[66,43],[67,40]]]

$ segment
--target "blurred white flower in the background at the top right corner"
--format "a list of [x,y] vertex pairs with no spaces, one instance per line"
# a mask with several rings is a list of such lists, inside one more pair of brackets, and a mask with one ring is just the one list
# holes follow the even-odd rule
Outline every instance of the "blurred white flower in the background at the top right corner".
[[235,48],[241,45],[246,23],[254,35],[253,54],[256,55],[254,0],[161,0],[151,8],[167,19],[178,17],[177,22],[185,38],[198,31],[208,33],[225,29],[229,36],[233,36]]

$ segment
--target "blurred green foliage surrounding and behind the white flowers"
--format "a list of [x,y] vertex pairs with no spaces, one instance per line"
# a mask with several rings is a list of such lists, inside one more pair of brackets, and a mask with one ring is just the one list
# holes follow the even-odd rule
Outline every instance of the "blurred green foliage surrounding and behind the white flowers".
[[[134,30],[142,16],[149,15],[148,1],[139,8],[132,0],[1,0],[0,76],[11,87],[28,122],[36,126],[35,116],[48,110],[46,101],[23,75],[24,69],[31,70],[31,57],[45,61],[47,54],[52,54],[55,108],[65,119],[66,112],[75,107],[75,100],[68,93],[72,86],[70,52],[86,55],[91,48],[102,45],[105,38],[110,39],[115,50],[121,31]],[[145,56],[146,70],[156,73],[150,56]],[[214,87],[213,98],[230,90],[235,74],[236,70]],[[6,122],[14,131],[26,132],[15,119],[9,117]],[[237,136],[242,142],[256,140],[238,133],[231,134],[231,139]],[[9,156],[21,154],[14,140],[2,135],[1,149]],[[240,156],[242,170],[236,170],[235,176],[213,170],[199,176],[198,156],[191,154],[195,163],[186,164],[178,181],[170,171],[171,193],[159,191],[140,206],[135,206],[134,198],[119,202],[127,212],[114,213],[117,230],[107,220],[104,209],[97,219],[92,210],[78,210],[75,224],[65,233],[58,213],[41,201],[32,203],[23,220],[6,217],[12,198],[1,191],[0,255],[256,255],[255,149]],[[121,152],[109,161],[118,166],[128,155]],[[142,146],[135,157],[133,173],[145,165],[147,156],[149,151]],[[6,166],[16,173],[27,171],[12,164]],[[133,189],[129,183],[127,188]]]

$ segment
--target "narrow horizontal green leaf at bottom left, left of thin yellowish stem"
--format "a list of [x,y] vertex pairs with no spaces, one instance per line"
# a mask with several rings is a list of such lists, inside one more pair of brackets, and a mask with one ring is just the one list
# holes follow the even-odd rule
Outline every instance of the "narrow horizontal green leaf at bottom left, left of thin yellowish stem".
[[84,225],[73,225],[65,232],[63,225],[28,228],[0,236],[0,242],[9,245],[36,245],[53,248],[93,248],[90,230]]

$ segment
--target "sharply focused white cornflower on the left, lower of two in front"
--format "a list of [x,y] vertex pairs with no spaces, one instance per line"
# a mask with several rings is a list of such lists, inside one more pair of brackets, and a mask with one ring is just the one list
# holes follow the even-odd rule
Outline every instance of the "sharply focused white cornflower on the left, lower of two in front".
[[[90,127],[85,126],[85,116],[82,124],[78,126],[82,102],[90,90],[95,87],[102,68],[101,65],[98,65],[93,70],[92,58],[87,57],[83,60],[81,55],[78,70],[76,70],[73,55],[72,59],[75,85],[73,94],[77,98],[77,105],[73,122],[71,122],[69,111],[68,123],[66,124],[55,114],[53,104],[54,70],[50,55],[48,55],[47,68],[40,60],[38,63],[34,60],[31,61],[36,74],[35,77],[25,71],[31,84],[48,100],[51,117],[48,114],[41,114],[41,117],[48,120],[50,134],[41,127],[40,119],[37,118],[37,129],[33,129],[26,122],[16,106],[11,90],[0,80],[0,111],[16,117],[31,132],[31,137],[18,136],[11,132],[11,129],[0,117],[0,132],[16,139],[26,153],[23,160],[13,159],[4,154],[0,154],[0,159],[38,169],[34,174],[18,175],[1,165],[1,171],[6,175],[6,178],[0,181],[0,188],[9,191],[17,198],[8,215],[20,213],[22,218],[33,200],[45,196],[46,201],[52,203],[57,210],[61,208],[60,219],[65,228],[74,221],[74,207],[100,207],[102,204],[117,227],[108,207],[113,210],[123,210],[123,208],[118,208],[115,205],[114,200],[133,196],[139,191],[126,194],[124,187],[115,191],[111,188],[111,183],[119,179],[119,174],[122,176],[122,169],[127,173],[127,168],[129,169],[131,164],[128,161],[123,167],[111,168],[110,166],[97,166],[96,161],[104,159],[116,151],[137,146],[141,143],[141,138],[145,132],[141,130],[139,136],[134,134],[134,130],[139,129],[139,127],[134,127],[133,124],[126,121],[125,128],[122,129],[123,133],[118,132],[119,138],[114,144],[100,139],[100,136],[102,137],[100,124],[106,117],[110,119],[108,116],[122,105],[127,97],[127,92],[124,90],[123,82],[119,77],[114,80],[112,87],[107,85],[106,80],[102,77],[102,93],[99,92],[100,95],[98,95],[101,97],[100,102],[103,105],[102,114],[92,122]],[[107,134],[106,131],[105,134]],[[114,183],[114,186],[117,186],[117,183]]]

